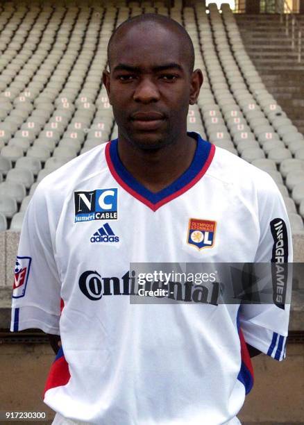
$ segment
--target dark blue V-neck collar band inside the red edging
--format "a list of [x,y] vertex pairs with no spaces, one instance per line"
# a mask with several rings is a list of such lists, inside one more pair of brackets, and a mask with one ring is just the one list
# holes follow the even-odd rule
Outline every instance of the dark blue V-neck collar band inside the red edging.
[[123,163],[118,155],[118,139],[112,140],[110,142],[110,158],[112,164],[115,167],[115,171],[131,189],[135,190],[142,197],[148,199],[151,203],[158,203],[162,199],[169,197],[171,194],[178,192],[178,190],[183,189],[185,185],[190,183],[197,174],[201,171],[205,165],[206,160],[212,147],[210,142],[203,140],[199,133],[188,132],[187,135],[191,138],[194,138],[197,142],[196,151],[191,165],[186,171],[177,178],[176,181],[171,183],[167,188],[160,190],[159,192],[151,192],[146,189],[141,183],[139,183],[124,167]]

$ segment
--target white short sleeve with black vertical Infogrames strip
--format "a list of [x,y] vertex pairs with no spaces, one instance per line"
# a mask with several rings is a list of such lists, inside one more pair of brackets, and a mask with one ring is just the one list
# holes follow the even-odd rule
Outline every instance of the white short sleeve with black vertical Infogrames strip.
[[[292,267],[287,264],[293,259],[289,219],[276,183],[266,174],[258,192],[258,206],[260,240],[255,263],[282,265],[289,274],[285,284],[291,285]],[[248,344],[276,360],[282,360],[286,356],[290,303],[288,297],[285,302],[284,288],[276,281],[273,291],[273,303],[243,304],[239,309],[239,325]]]

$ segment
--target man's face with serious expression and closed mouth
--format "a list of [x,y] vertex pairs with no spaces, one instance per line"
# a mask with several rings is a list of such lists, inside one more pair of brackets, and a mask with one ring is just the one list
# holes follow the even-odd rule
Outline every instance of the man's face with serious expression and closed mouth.
[[185,133],[197,76],[178,33],[150,22],[121,32],[103,75],[119,135],[140,149],[159,149]]

